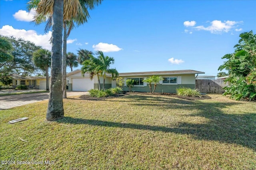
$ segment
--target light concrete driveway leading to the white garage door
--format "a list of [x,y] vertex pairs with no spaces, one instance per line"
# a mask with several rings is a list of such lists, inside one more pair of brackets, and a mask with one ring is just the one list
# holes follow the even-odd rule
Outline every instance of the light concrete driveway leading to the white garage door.
[[[89,92],[67,92],[67,96],[82,96]],[[40,102],[49,99],[49,93],[17,94],[12,96],[0,96],[0,110],[22,106],[30,103]]]

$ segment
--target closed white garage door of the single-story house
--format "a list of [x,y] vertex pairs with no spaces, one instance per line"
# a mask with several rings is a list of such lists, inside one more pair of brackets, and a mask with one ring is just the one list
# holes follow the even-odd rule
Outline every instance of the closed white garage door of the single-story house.
[[94,82],[90,78],[72,78],[73,91],[88,91],[93,88]]

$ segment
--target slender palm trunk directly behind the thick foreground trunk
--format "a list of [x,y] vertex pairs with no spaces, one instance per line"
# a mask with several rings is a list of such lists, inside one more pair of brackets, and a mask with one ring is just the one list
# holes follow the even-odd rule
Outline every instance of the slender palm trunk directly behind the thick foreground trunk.
[[64,32],[63,32],[63,56],[62,56],[62,98],[67,98],[67,24],[64,21]]

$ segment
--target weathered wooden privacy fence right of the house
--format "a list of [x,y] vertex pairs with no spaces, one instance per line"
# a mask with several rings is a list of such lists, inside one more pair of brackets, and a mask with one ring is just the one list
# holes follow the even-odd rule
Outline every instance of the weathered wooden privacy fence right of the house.
[[228,86],[228,82],[225,83],[224,80],[196,80],[196,88],[199,89],[201,93],[222,94],[225,92],[223,89],[225,86]]

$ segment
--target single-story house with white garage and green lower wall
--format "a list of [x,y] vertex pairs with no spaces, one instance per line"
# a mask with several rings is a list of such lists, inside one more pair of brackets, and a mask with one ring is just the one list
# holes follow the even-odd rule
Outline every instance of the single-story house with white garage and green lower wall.
[[[194,89],[196,86],[196,76],[198,76],[198,74],[204,74],[204,72],[195,70],[126,72],[119,73],[119,77],[124,78],[124,91],[129,91],[129,88],[126,86],[125,82],[130,78],[135,80],[134,87],[132,87],[133,91],[150,92],[149,84],[143,82],[142,80],[153,75],[162,76],[163,80],[158,83],[155,92],[176,93],[176,88],[179,87]],[[67,73],[67,76],[69,78],[68,90],[70,91],[88,91],[90,89],[98,88],[97,76],[94,76],[94,78],[90,80],[88,74],[84,74],[84,76],[82,76],[80,69]],[[102,82],[103,77],[100,77],[100,83]],[[100,86],[102,87],[102,84]],[[105,80],[105,88],[114,87],[116,87],[116,81],[112,80],[111,75],[107,75]],[[154,83],[152,83],[152,88],[154,88]]]

